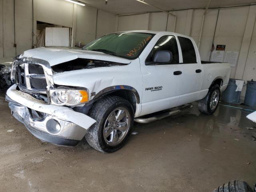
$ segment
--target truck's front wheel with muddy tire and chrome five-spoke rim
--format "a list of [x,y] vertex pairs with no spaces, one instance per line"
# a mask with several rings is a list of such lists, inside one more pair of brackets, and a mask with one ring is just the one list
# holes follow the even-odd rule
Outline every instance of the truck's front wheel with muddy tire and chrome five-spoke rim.
[[[119,121],[116,118],[118,113],[120,117],[125,114]],[[90,146],[103,153],[115,152],[124,146],[134,121],[134,111],[127,100],[118,96],[105,96],[92,106],[88,116],[97,121],[85,135]],[[127,128],[123,131],[125,123]]]

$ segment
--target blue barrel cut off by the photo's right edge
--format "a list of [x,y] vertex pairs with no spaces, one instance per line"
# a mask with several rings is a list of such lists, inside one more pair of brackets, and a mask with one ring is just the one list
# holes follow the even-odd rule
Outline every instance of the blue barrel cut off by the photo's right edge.
[[256,107],[256,81],[247,81],[244,104]]

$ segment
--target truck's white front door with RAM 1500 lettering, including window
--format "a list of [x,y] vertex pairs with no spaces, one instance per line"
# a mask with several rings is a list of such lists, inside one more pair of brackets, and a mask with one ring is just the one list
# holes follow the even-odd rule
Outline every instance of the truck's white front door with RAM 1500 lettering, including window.
[[[172,52],[170,62],[153,62],[159,50]],[[177,106],[181,89],[182,65],[179,64],[178,46],[175,36],[161,37],[146,61],[140,61],[143,90],[140,116]]]

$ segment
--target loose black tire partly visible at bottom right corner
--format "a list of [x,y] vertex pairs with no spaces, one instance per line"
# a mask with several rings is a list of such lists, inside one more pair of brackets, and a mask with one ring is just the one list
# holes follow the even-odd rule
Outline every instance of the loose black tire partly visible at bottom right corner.
[[219,186],[214,192],[254,192],[250,186],[240,180],[234,180]]

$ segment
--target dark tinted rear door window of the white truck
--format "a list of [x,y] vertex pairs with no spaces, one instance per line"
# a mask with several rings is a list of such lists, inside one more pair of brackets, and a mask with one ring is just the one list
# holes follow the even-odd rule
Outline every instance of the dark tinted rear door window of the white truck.
[[182,50],[183,63],[196,63],[195,48],[190,39],[178,37]]

